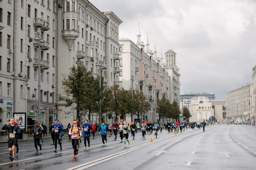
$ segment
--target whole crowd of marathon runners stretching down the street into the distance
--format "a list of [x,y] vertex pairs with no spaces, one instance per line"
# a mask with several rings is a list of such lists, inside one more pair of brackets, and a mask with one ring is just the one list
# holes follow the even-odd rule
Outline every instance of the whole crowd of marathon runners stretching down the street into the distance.
[[[203,131],[205,131],[206,126],[211,126],[214,122],[182,122],[182,121],[176,121],[176,122],[142,122],[141,124],[139,122],[131,122],[127,124],[126,121],[117,123],[114,122],[113,124],[102,122],[102,125],[99,127],[98,131],[99,134],[101,134],[102,137],[102,143],[103,147],[105,146],[105,143],[108,143],[107,141],[107,134],[109,137],[112,136],[112,132],[114,133],[115,140],[117,138],[120,138],[121,142],[124,143],[124,147],[127,147],[127,144],[130,145],[129,141],[129,132],[131,133],[131,136],[133,139],[135,138],[135,134],[137,134],[137,130],[141,130],[142,137],[145,139],[146,134],[152,134],[154,132],[155,137],[157,138],[158,132],[162,133],[163,128],[165,131],[168,131],[168,133],[182,133],[185,130],[188,129],[200,129],[203,128]],[[93,123],[90,125],[88,123],[88,120],[84,121],[84,124],[81,126],[76,120],[73,121],[72,125],[69,124],[66,128],[68,130],[68,136],[69,141],[71,141],[72,147],[74,149],[73,152],[73,158],[76,158],[76,155],[78,154],[78,147],[80,146],[79,143],[82,143],[81,138],[84,137],[84,150],[90,150],[90,135],[93,135],[93,138],[95,137],[95,133],[97,131],[96,125]],[[15,154],[19,152],[18,147],[18,134],[20,134],[20,128],[19,125],[15,124],[14,118],[12,117],[10,122],[6,122],[6,124],[2,127],[2,130],[6,130],[8,132],[7,140],[8,140],[8,148],[10,151],[10,155],[12,156],[12,162],[15,161]],[[43,130],[44,128],[37,122],[34,122],[34,127],[32,129],[32,135],[34,137],[34,147],[36,148],[36,153],[38,153],[38,147],[41,150],[41,144],[40,141],[43,143]],[[55,145],[54,152],[57,152],[57,142],[60,147],[60,151],[62,151],[62,136],[63,133],[63,125],[59,123],[59,120],[56,119],[55,123],[52,123],[52,126],[50,127],[51,131],[51,137],[53,140],[53,145]],[[82,134],[83,132],[83,134]],[[118,136],[119,132],[119,136]],[[88,148],[87,148],[88,144]],[[16,149],[17,148],[17,149]]]

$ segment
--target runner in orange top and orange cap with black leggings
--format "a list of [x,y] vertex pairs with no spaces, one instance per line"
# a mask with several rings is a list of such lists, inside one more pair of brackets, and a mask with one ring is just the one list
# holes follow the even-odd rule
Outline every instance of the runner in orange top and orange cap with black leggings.
[[79,142],[79,138],[82,136],[81,129],[77,127],[77,121],[73,121],[73,127],[69,129],[69,135],[71,135],[71,143],[74,149],[73,158],[76,158],[76,155],[78,154],[78,149],[76,149],[76,146]]

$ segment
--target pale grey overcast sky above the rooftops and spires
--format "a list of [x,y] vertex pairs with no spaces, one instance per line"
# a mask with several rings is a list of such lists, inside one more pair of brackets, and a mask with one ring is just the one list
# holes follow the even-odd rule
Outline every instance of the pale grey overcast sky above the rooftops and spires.
[[[256,64],[256,0],[91,0],[123,23],[119,38],[154,42],[158,57],[172,49],[180,68],[180,94],[215,93],[252,83]],[[165,60],[165,57],[164,57]],[[165,62],[166,63],[166,62]]]

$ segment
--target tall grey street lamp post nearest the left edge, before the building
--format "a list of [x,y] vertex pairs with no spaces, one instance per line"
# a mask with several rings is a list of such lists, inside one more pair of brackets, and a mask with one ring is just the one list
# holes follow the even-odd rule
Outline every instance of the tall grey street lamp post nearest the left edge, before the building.
[[35,39],[36,42],[38,42],[38,123],[41,123],[41,43],[44,43],[44,40],[42,39],[42,34],[37,32],[37,37]]

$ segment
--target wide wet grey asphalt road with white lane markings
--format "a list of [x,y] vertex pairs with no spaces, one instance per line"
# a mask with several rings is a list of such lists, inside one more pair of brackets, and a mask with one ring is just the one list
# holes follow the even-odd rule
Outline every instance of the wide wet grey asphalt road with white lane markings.
[[90,150],[83,150],[82,139],[76,159],[66,137],[62,142],[63,151],[60,152],[58,145],[57,153],[53,152],[50,138],[44,139],[38,154],[33,141],[19,142],[15,162],[11,162],[8,144],[1,143],[0,169],[256,169],[256,128],[247,125],[215,125],[207,127],[205,132],[202,128],[188,129],[177,135],[163,129],[158,138],[153,132],[145,139],[138,131],[134,140],[129,132],[127,148],[121,143],[119,133],[117,136],[117,140],[114,134],[107,136],[108,143],[102,147],[101,136],[92,139],[91,135]]

